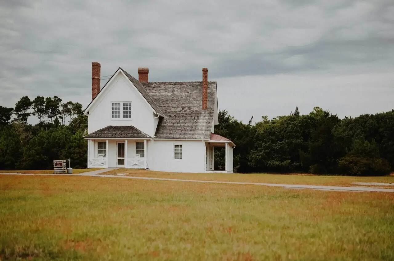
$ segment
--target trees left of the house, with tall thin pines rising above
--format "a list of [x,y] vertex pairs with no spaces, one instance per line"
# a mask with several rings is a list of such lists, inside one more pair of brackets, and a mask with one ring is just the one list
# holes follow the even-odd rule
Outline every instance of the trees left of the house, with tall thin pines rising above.
[[[28,119],[37,117],[38,123]],[[23,96],[14,108],[0,106],[0,169],[52,169],[53,160],[71,158],[87,167],[87,116],[82,105],[62,99]]]

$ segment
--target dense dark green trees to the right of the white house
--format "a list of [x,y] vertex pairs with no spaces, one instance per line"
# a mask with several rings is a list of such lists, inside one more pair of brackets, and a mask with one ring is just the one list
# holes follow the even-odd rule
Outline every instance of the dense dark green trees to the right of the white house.
[[[387,175],[394,170],[394,110],[338,118],[315,107],[301,115],[251,124],[219,112],[215,133],[236,144],[234,169],[241,173],[316,173]],[[215,152],[216,169],[224,168],[224,151]]]

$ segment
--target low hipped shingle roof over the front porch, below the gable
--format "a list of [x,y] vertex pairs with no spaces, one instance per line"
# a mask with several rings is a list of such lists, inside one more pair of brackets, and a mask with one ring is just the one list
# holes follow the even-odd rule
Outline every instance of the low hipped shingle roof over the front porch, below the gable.
[[107,126],[84,138],[152,138],[134,126]]

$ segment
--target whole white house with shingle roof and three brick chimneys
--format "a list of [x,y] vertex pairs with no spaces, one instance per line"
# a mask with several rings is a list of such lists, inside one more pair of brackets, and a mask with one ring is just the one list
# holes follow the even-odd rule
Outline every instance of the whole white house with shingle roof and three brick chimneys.
[[100,89],[100,64],[92,63],[88,167],[174,172],[214,171],[214,147],[225,147],[225,171],[233,172],[234,143],[214,134],[218,124],[216,81],[149,82],[119,68]]

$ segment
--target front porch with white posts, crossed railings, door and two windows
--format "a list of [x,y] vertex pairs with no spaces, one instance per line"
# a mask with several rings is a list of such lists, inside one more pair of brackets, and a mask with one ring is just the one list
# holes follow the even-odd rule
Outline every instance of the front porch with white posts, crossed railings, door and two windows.
[[87,167],[148,169],[148,139],[88,139]]

